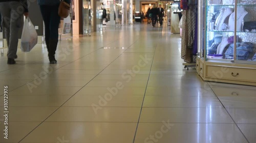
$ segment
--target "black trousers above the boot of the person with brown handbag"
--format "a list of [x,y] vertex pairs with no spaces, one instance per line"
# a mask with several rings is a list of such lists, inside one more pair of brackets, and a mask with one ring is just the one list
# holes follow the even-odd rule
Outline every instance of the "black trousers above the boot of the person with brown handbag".
[[40,6],[42,19],[45,23],[45,39],[58,39],[60,17],[58,15],[59,5],[56,6]]

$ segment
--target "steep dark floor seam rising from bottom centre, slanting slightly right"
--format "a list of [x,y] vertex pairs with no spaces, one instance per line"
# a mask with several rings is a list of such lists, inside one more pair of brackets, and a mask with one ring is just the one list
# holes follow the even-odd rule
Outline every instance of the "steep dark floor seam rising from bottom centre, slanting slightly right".
[[[159,35],[160,34],[158,34],[158,39],[159,39]],[[152,70],[154,58],[155,58],[155,55],[156,55],[157,45],[158,44],[156,44],[154,55],[153,55],[153,58],[152,58],[150,73],[148,74],[148,78],[147,78],[147,83],[146,83],[146,88],[145,88],[144,96],[143,96],[142,103],[141,103],[141,109],[140,109],[140,113],[139,113],[139,118],[138,118],[138,122],[137,122],[137,125],[136,125],[135,133],[134,133],[133,143],[135,143],[135,140],[136,140],[136,135],[137,135],[137,131],[138,131],[139,123],[140,123],[140,117],[141,117],[141,113],[142,113],[142,109],[143,109],[143,103],[144,103],[144,100],[145,100],[147,85],[148,85],[148,82],[150,80],[151,70]]]

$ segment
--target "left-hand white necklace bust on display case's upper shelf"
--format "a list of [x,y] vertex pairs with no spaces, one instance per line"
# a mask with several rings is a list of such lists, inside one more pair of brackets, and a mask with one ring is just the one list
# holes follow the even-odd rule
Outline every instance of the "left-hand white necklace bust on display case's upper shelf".
[[220,15],[216,19],[215,30],[222,31],[222,24],[225,22],[226,18],[233,12],[232,8],[222,8]]

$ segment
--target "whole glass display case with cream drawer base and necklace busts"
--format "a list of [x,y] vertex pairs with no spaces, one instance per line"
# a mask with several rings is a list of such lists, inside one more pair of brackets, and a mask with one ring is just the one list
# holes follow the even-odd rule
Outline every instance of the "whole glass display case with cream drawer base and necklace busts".
[[256,85],[251,76],[256,72],[256,0],[207,0],[198,5],[200,76]]

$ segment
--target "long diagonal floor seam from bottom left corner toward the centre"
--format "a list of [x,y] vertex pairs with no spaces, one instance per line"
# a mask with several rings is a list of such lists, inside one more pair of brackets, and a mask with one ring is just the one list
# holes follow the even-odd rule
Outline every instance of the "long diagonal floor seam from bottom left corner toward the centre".
[[[137,40],[138,40],[138,39],[137,39]],[[136,42],[137,40],[135,40],[135,42]],[[114,43],[114,42],[113,42],[113,43]],[[134,44],[134,43],[133,43],[133,44]],[[133,44],[132,44],[132,45],[133,45]],[[99,49],[101,49],[101,48],[99,48]],[[99,50],[99,49],[97,49],[97,50]],[[129,47],[128,47],[127,49],[129,49]],[[125,49],[123,52],[125,52],[127,49]],[[97,51],[97,50],[95,50],[95,51]],[[123,53],[123,52],[122,52],[122,53]],[[122,53],[121,53],[121,54],[122,54]],[[119,56],[121,56],[121,54],[120,54]],[[118,59],[119,56],[117,56],[116,59]],[[111,65],[116,59],[114,59],[109,65]],[[108,66],[109,66],[109,65],[108,65]],[[107,68],[108,66],[106,66],[105,68]],[[105,68],[104,68],[104,69],[105,69]],[[104,70],[104,69],[103,69],[103,70]],[[101,70],[96,76],[98,76],[103,70]],[[96,77],[96,76],[95,76],[95,77]],[[94,79],[95,77],[93,77],[93,79]],[[90,81],[92,81],[93,79],[91,79]],[[90,81],[89,81],[88,83],[90,83]],[[88,83],[87,83],[87,84],[88,84]],[[86,84],[86,85],[87,85],[87,84]],[[83,87],[86,87],[86,85],[84,85]],[[81,89],[82,89],[82,88],[81,88]],[[73,96],[75,96],[81,89],[79,89],[74,95],[72,95],[66,102],[64,102],[62,105],[60,105],[54,112],[51,113],[51,115],[49,115],[44,121],[42,121],[38,126],[36,126],[32,131],[30,131],[25,137],[23,137],[20,141],[18,141],[18,143],[21,142],[23,139],[25,139],[30,133],[32,133],[37,127],[39,127],[42,123],[44,123],[48,118],[50,118],[50,117],[53,115],[53,113],[55,113],[61,106],[63,106],[65,103],[67,103],[67,102],[68,102]]]

